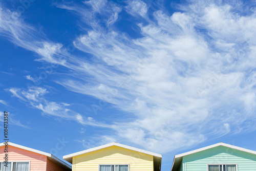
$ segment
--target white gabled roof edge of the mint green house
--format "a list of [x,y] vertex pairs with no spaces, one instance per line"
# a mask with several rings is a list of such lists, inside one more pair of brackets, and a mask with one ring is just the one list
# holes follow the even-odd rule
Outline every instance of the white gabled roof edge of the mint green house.
[[186,153],[182,153],[182,154],[179,154],[179,155],[175,155],[174,156],[173,165],[172,165],[172,168],[170,169],[170,171],[173,170],[173,167],[174,167],[174,164],[175,164],[175,160],[177,158],[180,158],[180,157],[183,157],[183,156],[187,156],[187,155],[191,155],[191,154],[198,153],[198,152],[202,152],[202,151],[204,151],[206,149],[214,148],[214,147],[217,147],[217,146],[225,146],[225,147],[237,149],[237,150],[242,151],[242,152],[246,152],[246,153],[250,153],[250,154],[256,155],[256,151],[253,151],[253,150],[250,150],[250,149],[246,149],[246,148],[242,148],[242,147],[239,147],[239,146],[234,146],[234,145],[226,144],[226,143],[223,143],[223,142],[219,142],[217,144],[213,144],[213,145],[209,145],[209,146],[206,146],[206,147],[198,148],[198,149],[195,149],[195,150],[190,151],[190,152],[186,152]]

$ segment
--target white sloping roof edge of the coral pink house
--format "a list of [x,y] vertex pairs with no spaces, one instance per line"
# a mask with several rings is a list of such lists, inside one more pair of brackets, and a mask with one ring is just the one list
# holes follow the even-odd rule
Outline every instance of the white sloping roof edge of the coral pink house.
[[[5,145],[4,142],[0,143],[0,147],[1,147],[1,146],[4,146],[4,145]],[[53,155],[50,154],[50,153],[42,152],[42,151],[39,151],[39,150],[37,150],[37,149],[29,148],[29,147],[26,147],[26,146],[23,146],[23,145],[18,145],[18,144],[12,143],[12,142],[8,142],[8,145],[11,145],[11,146],[14,146],[14,147],[17,147],[17,148],[26,149],[27,151],[34,152],[34,153],[38,153],[38,154],[41,154],[41,155],[50,157],[50,158],[56,160],[57,162],[59,162],[60,164],[65,165],[66,167],[72,169],[72,166],[70,166],[69,164],[63,162],[62,160],[60,160],[59,158],[53,156]]]

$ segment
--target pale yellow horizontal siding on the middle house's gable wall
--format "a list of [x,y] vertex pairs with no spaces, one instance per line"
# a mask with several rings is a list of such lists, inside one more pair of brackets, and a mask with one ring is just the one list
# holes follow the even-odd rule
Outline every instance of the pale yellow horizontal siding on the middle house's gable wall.
[[154,171],[153,156],[119,146],[73,157],[73,171],[98,171],[99,164],[130,164],[130,171]]

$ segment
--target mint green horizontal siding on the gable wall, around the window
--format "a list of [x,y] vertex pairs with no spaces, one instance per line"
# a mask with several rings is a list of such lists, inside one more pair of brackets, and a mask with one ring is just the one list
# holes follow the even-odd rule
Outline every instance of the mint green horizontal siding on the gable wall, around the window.
[[238,164],[239,171],[256,170],[256,155],[236,149],[217,146],[205,151],[183,156],[179,171],[206,171],[207,164]]

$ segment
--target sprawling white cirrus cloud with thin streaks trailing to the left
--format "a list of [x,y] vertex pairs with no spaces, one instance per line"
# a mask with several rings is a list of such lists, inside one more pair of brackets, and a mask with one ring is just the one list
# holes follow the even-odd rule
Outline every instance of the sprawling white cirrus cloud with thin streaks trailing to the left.
[[[57,63],[69,70],[70,77],[59,77],[57,83],[111,103],[129,113],[129,120],[100,124],[63,103],[46,100],[44,88],[9,91],[43,114],[72,116],[81,124],[110,129],[109,134],[97,135],[100,141],[95,138],[91,143],[116,140],[163,153],[208,138],[254,131],[256,13],[242,14],[243,6],[228,3],[193,1],[180,5],[180,11],[172,14],[154,11],[151,18],[147,16],[150,4],[128,2],[122,8],[136,16],[131,18],[147,18],[147,23],[134,22],[140,28],[138,38],[111,25],[112,20],[118,22],[115,12],[119,13],[121,6],[103,0],[87,1],[84,6],[57,4],[90,25],[89,31],[82,32],[73,43],[94,56],[91,61],[69,54],[58,43],[42,41],[35,46],[34,40],[24,36],[33,28],[18,17],[4,18],[17,23],[15,32],[8,31],[13,24],[0,26],[10,40],[40,55],[38,61]],[[99,23],[98,15],[104,24]]]

